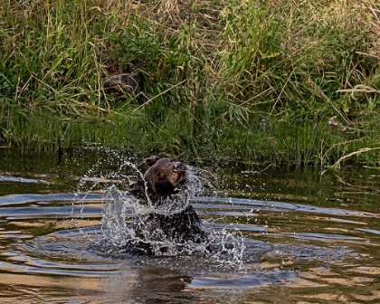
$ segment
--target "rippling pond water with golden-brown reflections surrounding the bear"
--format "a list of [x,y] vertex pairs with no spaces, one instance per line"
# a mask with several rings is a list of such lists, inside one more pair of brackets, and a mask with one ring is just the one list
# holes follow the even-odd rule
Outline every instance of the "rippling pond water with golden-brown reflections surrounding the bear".
[[104,192],[128,197],[142,160],[0,148],[1,303],[380,302],[378,168],[202,166],[192,204],[233,250],[147,257],[99,242]]

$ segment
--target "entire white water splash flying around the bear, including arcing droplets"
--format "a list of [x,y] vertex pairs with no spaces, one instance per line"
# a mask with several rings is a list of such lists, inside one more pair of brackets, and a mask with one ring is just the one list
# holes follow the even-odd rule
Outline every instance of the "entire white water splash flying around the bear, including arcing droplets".
[[[118,159],[121,164],[116,171],[101,170],[99,167],[91,168],[88,174],[81,178],[79,184],[81,193],[90,194],[96,190],[101,190],[104,193],[100,221],[102,235],[100,239],[89,236],[90,241],[99,245],[98,249],[101,248],[102,253],[117,255],[126,252],[144,252],[147,247],[149,248],[148,253],[159,256],[192,255],[203,252],[204,259],[206,259],[204,261],[208,263],[230,268],[242,266],[244,239],[242,234],[234,230],[233,227],[228,230],[225,228],[217,230],[213,228],[212,224],[206,223],[205,226],[209,227],[202,226],[201,229],[206,231],[210,243],[178,243],[166,238],[165,233],[159,229],[153,229],[154,225],[149,224],[151,221],[149,214],[164,216],[179,214],[191,204],[192,199],[203,193],[204,185],[209,188],[212,187],[207,178],[199,175],[201,169],[187,166],[185,183],[178,186],[176,195],[161,202],[161,204],[153,205],[147,196],[147,188],[145,188],[147,203],[141,204],[138,199],[129,195],[128,189],[133,181],[143,178],[142,172],[132,162],[122,157],[117,157]],[[105,160],[100,165],[108,168],[110,167],[109,162],[110,160]],[[115,167],[115,158],[112,162],[113,167]],[[85,197],[86,195],[84,195]],[[79,203],[85,204],[83,199]],[[133,221],[140,224],[139,230],[143,232],[143,235],[136,233]],[[78,222],[77,226],[80,225],[81,223]],[[209,246],[213,249],[212,252],[209,252]]]

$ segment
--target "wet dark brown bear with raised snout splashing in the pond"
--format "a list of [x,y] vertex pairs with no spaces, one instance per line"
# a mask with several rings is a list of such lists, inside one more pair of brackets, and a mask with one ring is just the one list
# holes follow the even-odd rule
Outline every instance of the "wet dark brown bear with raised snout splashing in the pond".
[[[188,195],[185,186],[188,182],[188,168],[184,163],[171,157],[148,157],[145,163],[149,167],[143,179],[129,189],[139,204],[150,204],[153,208],[165,207],[176,204],[177,200]],[[137,215],[133,231],[135,239],[138,240],[135,242],[135,249],[147,254],[166,252],[167,242],[176,243],[178,248],[189,243],[204,244],[200,246],[204,251],[212,251],[201,220],[188,198],[187,204],[179,211]],[[157,247],[152,247],[153,243],[162,243],[159,252]]]

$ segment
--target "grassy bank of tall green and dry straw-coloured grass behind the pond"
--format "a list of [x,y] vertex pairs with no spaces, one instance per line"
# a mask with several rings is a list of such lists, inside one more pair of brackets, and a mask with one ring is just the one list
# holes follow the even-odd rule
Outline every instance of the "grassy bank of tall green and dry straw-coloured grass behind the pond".
[[[3,146],[100,144],[296,166],[380,147],[375,0],[0,7]],[[134,71],[141,94],[109,88],[109,76]],[[378,151],[349,159],[378,165]]]

